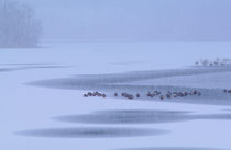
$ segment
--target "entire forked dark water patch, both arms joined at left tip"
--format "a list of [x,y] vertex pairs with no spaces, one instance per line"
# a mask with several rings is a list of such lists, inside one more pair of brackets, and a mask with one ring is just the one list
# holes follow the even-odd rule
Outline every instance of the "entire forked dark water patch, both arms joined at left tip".
[[[110,95],[112,96],[114,92],[118,93],[129,92],[131,94],[140,93],[141,94],[140,100],[144,99],[150,100],[148,97],[145,96],[147,91],[157,90],[166,93],[166,91],[189,92],[197,90],[202,93],[201,96],[187,96],[180,99],[183,101],[175,101],[175,102],[231,105],[230,101],[231,94],[224,94],[222,92],[223,89],[187,88],[187,86],[174,86],[174,85],[119,84],[130,81],[156,79],[164,77],[206,74],[206,73],[228,72],[228,71],[231,71],[231,67],[202,68],[202,69],[201,68],[172,69],[172,70],[161,70],[161,71],[140,71],[140,72],[114,73],[114,74],[88,74],[88,76],[86,74],[86,76],[76,76],[74,78],[35,81],[28,84],[35,86],[44,86],[44,88],[64,89],[64,90],[101,91],[103,93],[108,92],[109,96]],[[174,100],[172,102],[174,102]]]

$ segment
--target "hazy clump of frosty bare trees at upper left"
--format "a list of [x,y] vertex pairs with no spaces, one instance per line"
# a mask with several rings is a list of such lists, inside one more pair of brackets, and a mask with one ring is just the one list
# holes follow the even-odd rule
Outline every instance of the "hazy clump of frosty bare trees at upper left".
[[0,0],[0,47],[34,47],[41,33],[41,22],[31,7]]

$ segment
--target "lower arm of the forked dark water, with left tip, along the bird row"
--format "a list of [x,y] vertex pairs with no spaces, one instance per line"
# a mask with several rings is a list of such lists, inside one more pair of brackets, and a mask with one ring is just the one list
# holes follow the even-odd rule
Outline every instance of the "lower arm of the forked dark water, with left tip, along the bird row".
[[[103,80],[103,78],[101,79]],[[179,99],[165,99],[165,102],[177,102],[177,103],[193,103],[193,104],[211,104],[211,105],[231,105],[231,94],[224,94],[222,89],[199,89],[199,88],[185,88],[185,86],[172,86],[172,85],[120,85],[120,84],[99,84],[98,82],[91,80],[81,80],[76,78],[69,79],[53,79],[46,81],[37,81],[29,83],[29,85],[53,88],[53,89],[64,89],[64,90],[86,90],[86,91],[100,91],[107,93],[107,97],[112,96],[114,92],[122,93],[128,92],[130,94],[140,93],[141,97],[139,100],[156,101],[160,100],[158,96],[150,99],[146,96],[147,91],[161,91],[166,93],[166,91],[173,92],[189,92],[189,91],[200,91],[201,96],[187,96]],[[119,96],[120,97],[120,96]]]

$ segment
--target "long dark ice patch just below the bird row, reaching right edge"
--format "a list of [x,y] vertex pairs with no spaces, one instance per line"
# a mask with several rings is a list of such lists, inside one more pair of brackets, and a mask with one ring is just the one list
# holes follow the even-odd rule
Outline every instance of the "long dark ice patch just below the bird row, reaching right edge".
[[231,114],[194,115],[188,112],[123,109],[101,111],[82,115],[58,116],[54,117],[54,119],[65,123],[84,124],[163,124],[194,119],[231,120]]

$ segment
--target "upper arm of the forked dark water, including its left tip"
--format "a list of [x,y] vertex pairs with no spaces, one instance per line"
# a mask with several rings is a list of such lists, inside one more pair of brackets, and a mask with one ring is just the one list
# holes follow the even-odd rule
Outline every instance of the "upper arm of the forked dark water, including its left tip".
[[[72,85],[78,86],[89,86],[89,85],[106,85],[113,83],[123,83],[130,81],[140,81],[147,79],[156,79],[156,78],[165,78],[165,77],[177,77],[177,76],[191,76],[191,74],[206,74],[213,72],[228,72],[231,71],[231,67],[224,68],[190,68],[190,69],[172,69],[172,70],[156,70],[156,71],[135,71],[135,72],[127,72],[127,73],[114,73],[114,74],[81,74],[76,76],[76,78],[66,78],[66,79],[54,79],[54,80],[45,80],[37,81],[31,83],[32,85],[51,85],[54,82],[59,84],[63,88],[68,88],[68,84],[72,82]],[[59,83],[58,83],[59,82]],[[55,86],[53,86],[55,88]]]

